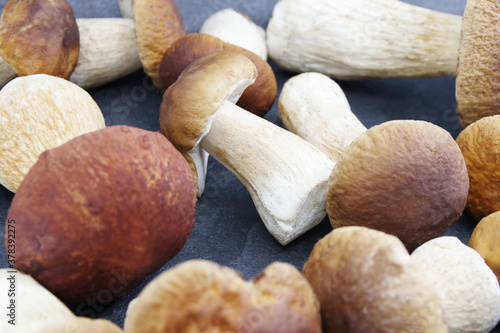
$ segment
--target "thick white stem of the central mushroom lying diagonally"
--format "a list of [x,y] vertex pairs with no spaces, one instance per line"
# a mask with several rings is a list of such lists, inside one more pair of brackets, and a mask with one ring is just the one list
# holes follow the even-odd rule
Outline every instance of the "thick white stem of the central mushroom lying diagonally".
[[281,244],[326,216],[333,162],[293,133],[226,101],[200,145],[245,185]]

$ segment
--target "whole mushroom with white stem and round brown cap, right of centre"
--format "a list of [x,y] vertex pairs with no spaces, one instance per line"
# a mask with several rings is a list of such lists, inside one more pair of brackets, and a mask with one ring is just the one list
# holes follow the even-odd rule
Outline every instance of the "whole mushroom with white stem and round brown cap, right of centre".
[[366,131],[340,87],[318,73],[287,81],[278,110],[288,129],[336,163],[326,197],[334,228],[374,228],[398,236],[413,250],[441,236],[462,215],[469,178],[460,148],[446,130],[395,120]]

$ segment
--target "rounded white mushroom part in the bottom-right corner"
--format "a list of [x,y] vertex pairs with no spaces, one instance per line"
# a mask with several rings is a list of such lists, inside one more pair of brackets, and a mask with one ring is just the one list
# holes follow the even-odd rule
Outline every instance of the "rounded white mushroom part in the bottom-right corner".
[[476,251],[456,237],[439,237],[417,248],[411,256],[432,279],[450,333],[486,333],[497,325],[500,287]]

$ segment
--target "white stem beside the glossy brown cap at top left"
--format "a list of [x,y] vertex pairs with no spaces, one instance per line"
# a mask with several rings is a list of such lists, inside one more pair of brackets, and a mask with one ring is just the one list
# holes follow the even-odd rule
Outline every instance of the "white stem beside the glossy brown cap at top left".
[[[134,21],[125,18],[79,18],[80,54],[70,81],[94,88],[142,68]],[[11,65],[0,58],[0,87],[16,77]]]

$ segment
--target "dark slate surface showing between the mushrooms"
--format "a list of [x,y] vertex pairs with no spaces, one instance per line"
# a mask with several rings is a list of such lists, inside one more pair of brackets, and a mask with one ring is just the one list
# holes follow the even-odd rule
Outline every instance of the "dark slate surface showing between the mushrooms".
[[[6,0],[0,0],[3,7]],[[120,17],[118,0],[69,0],[77,17]],[[277,0],[178,0],[188,32],[197,32],[203,21],[223,8],[237,8],[257,24],[267,26]],[[406,1],[435,10],[461,15],[465,0]],[[281,89],[292,74],[278,69],[272,61]],[[456,137],[461,130],[455,114],[455,81],[452,77],[405,80],[365,80],[339,82],[353,112],[367,127],[391,119],[421,119],[448,130]],[[158,108],[161,96],[150,81],[138,71],[117,82],[90,90],[101,107],[106,124],[132,125],[158,131]],[[276,103],[266,116],[282,125]],[[240,271],[252,278],[267,264],[279,260],[301,269],[314,243],[327,234],[331,227],[327,219],[286,247],[276,242],[265,229],[251,197],[238,180],[214,159],[210,159],[207,189],[198,201],[196,224],[184,249],[159,272],[151,276],[135,291],[111,304],[80,304],[73,307],[78,315],[107,318],[123,325],[126,307],[131,299],[161,271],[192,258],[213,260]],[[0,236],[13,194],[0,186]],[[27,207],[29,209],[29,207]],[[446,235],[457,236],[467,243],[475,226],[463,216]],[[146,227],[146,226],[145,226]],[[0,251],[0,267],[7,267],[5,251]],[[500,329],[496,329],[500,332]]]

